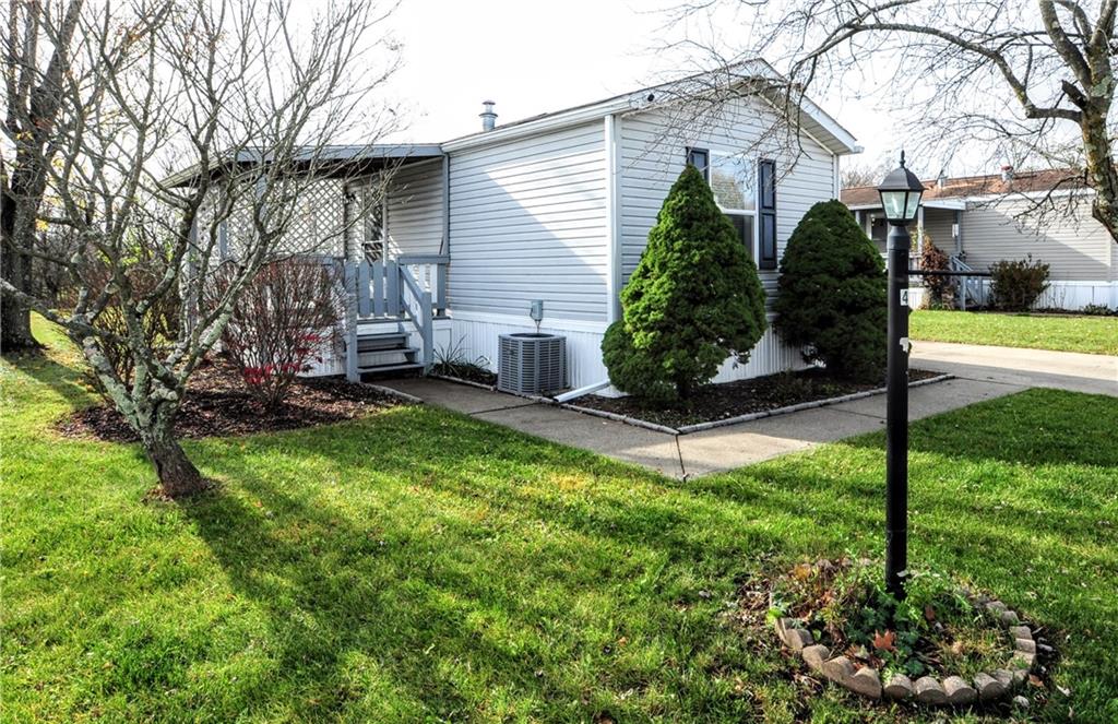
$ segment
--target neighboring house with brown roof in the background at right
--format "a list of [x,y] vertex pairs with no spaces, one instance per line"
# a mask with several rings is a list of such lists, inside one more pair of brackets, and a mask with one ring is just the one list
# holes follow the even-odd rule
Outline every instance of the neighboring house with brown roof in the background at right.
[[[925,188],[913,229],[918,245],[922,229],[953,264],[982,272],[1002,260],[1043,261],[1051,286],[1039,308],[1118,307],[1118,244],[1091,217],[1093,191],[1071,171],[1007,167],[991,176],[925,181]],[[1031,213],[1046,198],[1044,213]],[[888,228],[877,189],[843,189],[842,200],[884,253]]]

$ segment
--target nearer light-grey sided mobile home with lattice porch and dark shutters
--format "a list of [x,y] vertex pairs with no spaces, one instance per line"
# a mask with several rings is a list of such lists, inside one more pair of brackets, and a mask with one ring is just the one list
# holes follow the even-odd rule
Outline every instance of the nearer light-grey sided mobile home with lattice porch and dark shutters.
[[[726,91],[771,75],[754,63],[719,77],[728,78]],[[483,130],[471,135],[338,149],[340,160],[362,164],[370,179],[378,168],[394,169],[379,218],[345,244],[351,262],[378,261],[351,271],[371,290],[358,310],[359,372],[429,364],[452,349],[495,369],[500,335],[539,329],[566,336],[571,388],[601,385],[600,344],[620,314],[618,292],[689,160],[708,175],[775,293],[785,242],[813,204],[839,196],[839,159],[860,150],[855,139],[807,101],[798,130],[787,133],[777,100],[740,93],[692,107],[699,96],[681,87],[645,88],[504,125],[495,125],[489,103]],[[766,132],[774,126],[786,131],[784,139]],[[337,237],[348,203],[363,192],[362,184],[324,181],[293,233]],[[326,253],[340,255],[341,245]],[[542,305],[538,326],[533,303]],[[401,304],[410,314],[399,314]],[[717,379],[803,364],[769,329],[747,365],[728,360]],[[314,370],[343,372],[344,349]]]

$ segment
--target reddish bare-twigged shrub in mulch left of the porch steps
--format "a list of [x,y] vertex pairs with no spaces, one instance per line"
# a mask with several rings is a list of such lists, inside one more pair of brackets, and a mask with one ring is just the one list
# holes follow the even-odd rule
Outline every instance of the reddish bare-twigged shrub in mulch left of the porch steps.
[[[236,278],[228,264],[207,294],[224,297]],[[221,344],[248,392],[268,410],[286,398],[330,339],[343,308],[337,274],[314,261],[287,258],[265,265],[241,293]],[[320,359],[321,360],[321,359]]]

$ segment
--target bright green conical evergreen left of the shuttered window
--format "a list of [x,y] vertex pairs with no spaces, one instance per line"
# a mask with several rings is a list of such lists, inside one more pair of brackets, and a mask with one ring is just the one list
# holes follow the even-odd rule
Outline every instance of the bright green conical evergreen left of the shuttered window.
[[731,354],[741,361],[765,332],[765,290],[702,173],[688,166],[648,232],[622,290],[623,320],[601,347],[624,392],[686,397]]

